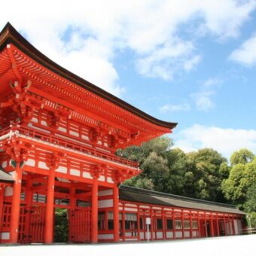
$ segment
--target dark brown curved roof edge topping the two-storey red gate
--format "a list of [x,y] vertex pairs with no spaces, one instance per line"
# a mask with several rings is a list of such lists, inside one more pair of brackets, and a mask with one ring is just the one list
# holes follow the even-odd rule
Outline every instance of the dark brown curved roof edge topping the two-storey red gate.
[[124,102],[122,99],[117,98],[111,93],[102,90],[94,84],[91,84],[89,81],[80,78],[78,75],[75,75],[72,72],[69,72],[67,69],[62,68],[37,50],[32,44],[29,43],[16,29],[11,25],[11,23],[7,23],[0,32],[0,51],[5,48],[7,44],[14,44],[18,49],[22,50],[23,53],[26,53],[29,57],[34,59],[36,62],[40,63],[45,68],[49,69],[51,72],[56,73],[57,75],[71,81],[74,84],[77,84],[80,87],[90,91],[91,93],[95,93],[97,96],[100,96],[102,99],[108,100],[114,105],[119,106],[120,108],[125,109],[126,111],[130,111],[132,114],[136,114],[138,117],[141,117],[145,120],[148,120],[151,123],[154,123],[158,126],[163,126],[165,128],[169,128],[172,130],[177,126],[178,123],[166,122],[163,120],[158,120],[155,117],[145,113],[144,111],[139,110],[139,108],[130,105],[127,102]]

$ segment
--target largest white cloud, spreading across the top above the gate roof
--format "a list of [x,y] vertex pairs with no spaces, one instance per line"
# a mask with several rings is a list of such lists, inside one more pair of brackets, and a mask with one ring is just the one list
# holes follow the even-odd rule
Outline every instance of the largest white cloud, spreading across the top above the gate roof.
[[198,33],[184,38],[181,25],[197,21],[215,38],[232,38],[255,5],[254,0],[4,1],[0,26],[10,21],[51,59],[120,96],[113,64],[120,50],[134,53],[141,75],[169,80],[200,61]]

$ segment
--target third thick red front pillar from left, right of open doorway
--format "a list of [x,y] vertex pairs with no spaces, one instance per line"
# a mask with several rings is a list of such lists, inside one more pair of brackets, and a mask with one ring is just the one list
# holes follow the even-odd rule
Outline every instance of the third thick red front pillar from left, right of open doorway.
[[91,242],[98,242],[98,176],[93,177]]

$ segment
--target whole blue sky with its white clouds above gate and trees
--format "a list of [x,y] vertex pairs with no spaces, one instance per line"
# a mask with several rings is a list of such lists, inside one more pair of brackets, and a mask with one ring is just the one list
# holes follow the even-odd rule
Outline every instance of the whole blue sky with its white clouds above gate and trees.
[[10,21],[61,66],[178,122],[175,146],[256,153],[256,0],[3,5],[0,26]]

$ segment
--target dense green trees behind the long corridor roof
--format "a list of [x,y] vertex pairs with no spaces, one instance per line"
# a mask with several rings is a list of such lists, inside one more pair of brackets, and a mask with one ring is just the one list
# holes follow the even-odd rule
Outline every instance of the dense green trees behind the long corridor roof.
[[184,153],[172,148],[169,137],[160,137],[117,154],[138,161],[143,170],[124,184],[232,203],[245,212],[256,212],[256,157],[245,148],[233,152],[228,163],[211,148]]

